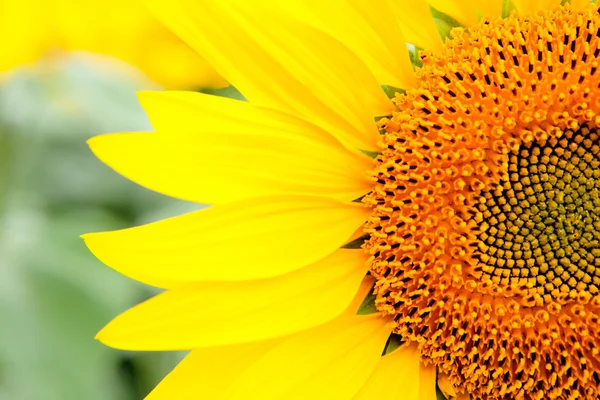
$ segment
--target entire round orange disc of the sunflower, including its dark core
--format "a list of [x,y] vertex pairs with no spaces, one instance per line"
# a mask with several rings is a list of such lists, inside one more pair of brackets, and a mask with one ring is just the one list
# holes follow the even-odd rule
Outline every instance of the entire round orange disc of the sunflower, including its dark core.
[[379,121],[376,307],[472,399],[600,399],[600,16],[455,29]]

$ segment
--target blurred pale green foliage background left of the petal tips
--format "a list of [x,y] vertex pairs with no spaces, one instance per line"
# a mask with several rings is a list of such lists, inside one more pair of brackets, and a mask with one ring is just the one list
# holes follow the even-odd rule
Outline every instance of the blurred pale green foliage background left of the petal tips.
[[[183,354],[94,340],[152,289],[102,265],[79,235],[197,209],[100,163],[86,139],[149,129],[127,69],[70,56],[0,85],[0,399],[140,400]],[[119,72],[117,72],[119,71]]]

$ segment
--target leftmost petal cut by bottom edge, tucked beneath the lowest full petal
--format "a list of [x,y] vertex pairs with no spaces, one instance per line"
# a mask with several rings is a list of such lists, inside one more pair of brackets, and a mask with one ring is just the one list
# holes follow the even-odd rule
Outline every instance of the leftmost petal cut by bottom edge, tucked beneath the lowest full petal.
[[277,341],[192,351],[145,400],[216,400],[244,370]]

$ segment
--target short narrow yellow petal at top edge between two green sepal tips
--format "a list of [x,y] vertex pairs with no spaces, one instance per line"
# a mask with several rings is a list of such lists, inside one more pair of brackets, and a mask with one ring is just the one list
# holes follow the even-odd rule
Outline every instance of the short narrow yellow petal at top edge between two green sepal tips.
[[388,3],[407,42],[428,51],[442,49],[442,38],[431,16],[427,0],[388,0]]

